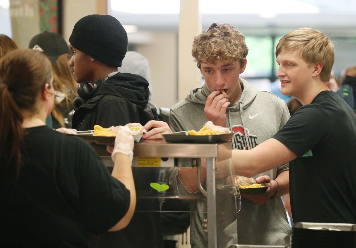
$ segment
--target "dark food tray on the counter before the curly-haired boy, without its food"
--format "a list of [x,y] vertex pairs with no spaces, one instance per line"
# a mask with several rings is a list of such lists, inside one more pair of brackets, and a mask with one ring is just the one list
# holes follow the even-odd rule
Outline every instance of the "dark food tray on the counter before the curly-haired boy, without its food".
[[187,131],[162,134],[166,142],[170,143],[220,143],[230,141],[235,133],[215,135],[189,135]]

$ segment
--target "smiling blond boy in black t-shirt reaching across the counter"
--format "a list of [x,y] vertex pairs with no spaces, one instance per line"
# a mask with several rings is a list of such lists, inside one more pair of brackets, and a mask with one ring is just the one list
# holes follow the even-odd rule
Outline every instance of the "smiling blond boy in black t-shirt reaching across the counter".
[[239,175],[289,162],[293,221],[356,223],[356,115],[327,86],[334,45],[309,28],[284,35],[276,48],[282,93],[299,108],[273,138],[252,150],[233,150]]

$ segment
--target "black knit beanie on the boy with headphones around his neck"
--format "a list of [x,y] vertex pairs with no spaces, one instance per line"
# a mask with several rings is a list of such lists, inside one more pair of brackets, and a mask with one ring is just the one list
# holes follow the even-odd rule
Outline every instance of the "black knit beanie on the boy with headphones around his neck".
[[95,60],[121,66],[127,52],[127,33],[110,15],[88,15],[80,19],[69,37],[70,44]]

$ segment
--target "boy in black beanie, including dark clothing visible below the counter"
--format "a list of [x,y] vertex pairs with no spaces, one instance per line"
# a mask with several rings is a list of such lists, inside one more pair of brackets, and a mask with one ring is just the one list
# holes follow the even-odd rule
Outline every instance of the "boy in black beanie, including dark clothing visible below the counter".
[[[96,124],[108,128],[133,122],[145,125],[148,120],[157,120],[156,108],[148,102],[147,80],[135,74],[117,72],[128,42],[124,27],[115,17],[83,17],[74,25],[69,42],[73,51],[69,65],[75,80],[81,83],[77,88],[80,98],[73,103],[77,108],[73,128],[92,130]],[[149,171],[141,169],[133,168],[136,188],[142,187],[143,175],[150,177]],[[90,248],[163,248],[161,217],[159,212],[153,212],[159,209],[158,202],[148,200],[138,204],[145,212],[135,212],[129,225],[121,231],[92,236]]]

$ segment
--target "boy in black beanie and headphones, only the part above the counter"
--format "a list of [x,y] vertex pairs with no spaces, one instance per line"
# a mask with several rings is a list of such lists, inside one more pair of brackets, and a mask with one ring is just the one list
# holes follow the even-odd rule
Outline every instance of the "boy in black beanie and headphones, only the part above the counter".
[[74,100],[72,128],[92,130],[148,120],[157,120],[156,108],[148,102],[145,78],[117,71],[127,52],[127,33],[110,15],[80,19],[69,37],[73,56],[69,61],[80,83]]

